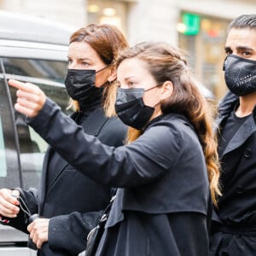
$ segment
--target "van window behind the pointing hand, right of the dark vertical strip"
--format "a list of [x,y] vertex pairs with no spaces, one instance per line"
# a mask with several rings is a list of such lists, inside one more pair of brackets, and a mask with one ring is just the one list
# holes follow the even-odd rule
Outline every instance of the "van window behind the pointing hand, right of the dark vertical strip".
[[[68,113],[69,96],[64,86],[67,61],[3,58],[6,79],[37,84],[46,96]],[[9,87],[12,102],[16,101],[15,88]],[[37,132],[26,125],[26,117],[15,112],[15,125],[20,144],[20,163],[24,188],[38,187],[48,144]]]

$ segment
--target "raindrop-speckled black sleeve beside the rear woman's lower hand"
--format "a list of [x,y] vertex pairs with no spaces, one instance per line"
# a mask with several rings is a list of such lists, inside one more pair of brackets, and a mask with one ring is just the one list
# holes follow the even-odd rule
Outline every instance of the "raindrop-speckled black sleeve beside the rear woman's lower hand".
[[49,247],[52,250],[64,249],[71,254],[85,250],[87,235],[98,224],[102,212],[72,212],[49,220]]

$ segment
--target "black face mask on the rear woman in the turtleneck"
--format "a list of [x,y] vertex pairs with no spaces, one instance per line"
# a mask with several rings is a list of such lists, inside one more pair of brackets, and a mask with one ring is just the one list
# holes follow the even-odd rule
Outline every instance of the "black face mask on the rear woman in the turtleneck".
[[65,86],[68,95],[75,101],[89,103],[102,96],[102,87],[95,86],[96,72],[94,69],[67,69]]

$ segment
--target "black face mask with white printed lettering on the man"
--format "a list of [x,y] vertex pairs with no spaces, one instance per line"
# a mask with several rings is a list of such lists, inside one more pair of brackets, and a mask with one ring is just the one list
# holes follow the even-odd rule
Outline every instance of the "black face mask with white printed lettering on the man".
[[225,82],[236,96],[256,91],[256,61],[228,55],[224,61]]

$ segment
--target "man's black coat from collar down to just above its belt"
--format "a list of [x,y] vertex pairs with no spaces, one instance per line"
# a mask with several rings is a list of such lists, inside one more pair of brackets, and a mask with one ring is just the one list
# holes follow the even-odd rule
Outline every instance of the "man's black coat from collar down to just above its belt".
[[[220,102],[217,119],[219,136],[226,119],[238,103],[239,98],[230,92]],[[222,150],[223,154],[219,155],[223,195],[218,199],[218,208],[215,209],[218,223],[248,236],[256,235],[255,131],[256,108]]]

